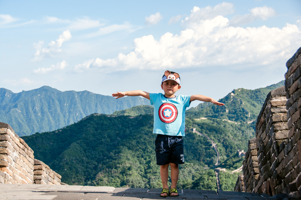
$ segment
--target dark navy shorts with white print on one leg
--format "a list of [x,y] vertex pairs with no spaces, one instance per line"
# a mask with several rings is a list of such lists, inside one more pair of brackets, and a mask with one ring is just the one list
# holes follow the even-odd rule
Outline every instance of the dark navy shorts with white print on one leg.
[[182,136],[158,134],[156,141],[157,165],[184,164],[184,142]]

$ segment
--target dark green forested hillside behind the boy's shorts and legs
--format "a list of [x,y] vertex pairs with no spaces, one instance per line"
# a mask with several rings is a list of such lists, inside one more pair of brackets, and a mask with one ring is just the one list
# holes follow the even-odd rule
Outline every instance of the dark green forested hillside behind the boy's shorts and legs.
[[[191,123],[188,123],[188,126]],[[219,119],[195,121],[197,129],[214,138],[222,160],[246,146],[253,129]],[[159,167],[154,154],[153,116],[91,115],[61,130],[22,137],[35,158],[73,185],[160,188]],[[185,137],[185,162],[179,186],[215,189],[216,162],[211,143],[191,131]],[[209,171],[208,171],[209,170]],[[209,176],[207,182],[200,177]],[[211,178],[210,178],[211,177]]]

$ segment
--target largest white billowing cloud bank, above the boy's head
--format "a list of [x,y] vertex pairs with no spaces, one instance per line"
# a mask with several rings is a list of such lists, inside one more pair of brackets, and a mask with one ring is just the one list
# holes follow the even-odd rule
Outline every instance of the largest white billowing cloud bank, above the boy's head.
[[[183,20],[184,30],[179,35],[165,33],[159,40],[152,35],[136,38],[134,50],[128,54],[120,53],[113,59],[97,58],[90,65],[110,72],[128,69],[165,70],[171,67],[231,68],[235,65],[243,69],[285,62],[299,47],[301,31],[296,24],[287,24],[282,29],[266,26],[233,27],[229,25],[228,18],[222,16],[232,12],[232,7],[228,3],[214,8],[194,7]],[[207,11],[205,14],[198,13],[204,10]],[[259,10],[252,12],[264,18]]]

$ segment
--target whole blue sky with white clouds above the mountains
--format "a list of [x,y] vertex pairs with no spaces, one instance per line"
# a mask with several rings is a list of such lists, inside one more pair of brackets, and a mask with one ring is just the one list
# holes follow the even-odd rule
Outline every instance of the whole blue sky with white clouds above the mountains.
[[0,0],[0,87],[161,92],[173,70],[178,94],[219,99],[284,80],[300,10],[299,0]]

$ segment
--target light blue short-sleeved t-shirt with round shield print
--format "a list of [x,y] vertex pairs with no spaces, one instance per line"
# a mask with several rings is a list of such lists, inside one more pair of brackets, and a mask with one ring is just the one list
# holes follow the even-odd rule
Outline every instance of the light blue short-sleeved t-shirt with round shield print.
[[190,105],[190,96],[167,98],[161,93],[150,93],[150,101],[154,105],[153,133],[185,136],[185,111]]

